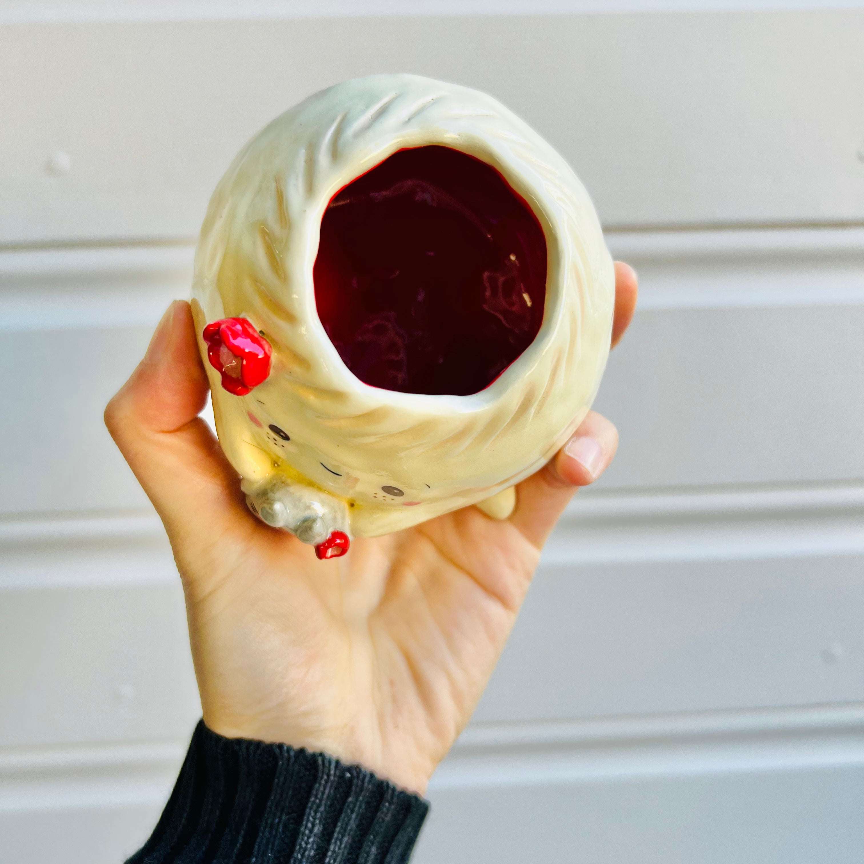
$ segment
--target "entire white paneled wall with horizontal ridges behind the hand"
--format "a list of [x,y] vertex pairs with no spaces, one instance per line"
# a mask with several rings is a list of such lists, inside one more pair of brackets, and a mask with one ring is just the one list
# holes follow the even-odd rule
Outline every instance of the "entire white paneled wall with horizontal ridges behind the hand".
[[234,151],[385,69],[536,124],[642,284],[598,400],[618,460],[556,531],[416,861],[864,861],[864,12],[37,7],[79,20],[0,24],[0,864],[117,862],[155,823],[199,707],[102,410],[187,295]]

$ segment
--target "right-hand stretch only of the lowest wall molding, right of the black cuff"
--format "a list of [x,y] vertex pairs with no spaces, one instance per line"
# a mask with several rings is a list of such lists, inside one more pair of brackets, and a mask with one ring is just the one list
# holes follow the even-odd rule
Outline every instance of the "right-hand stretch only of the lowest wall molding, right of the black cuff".
[[864,766],[864,703],[468,727],[429,791]]

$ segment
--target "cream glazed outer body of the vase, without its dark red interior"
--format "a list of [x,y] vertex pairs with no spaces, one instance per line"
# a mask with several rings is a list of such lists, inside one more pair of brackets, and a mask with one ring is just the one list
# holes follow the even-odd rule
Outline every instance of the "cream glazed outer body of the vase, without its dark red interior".
[[[539,333],[470,396],[364,384],[316,312],[313,265],[328,202],[397,150],[428,144],[496,168],[546,238]],[[466,505],[509,515],[512,487],[555,454],[594,399],[614,276],[588,194],[548,143],[484,93],[397,74],[316,93],[245,146],[210,201],[192,293],[219,441],[251,509],[329,557],[348,537]],[[260,334],[268,353],[252,346],[251,386],[238,393],[206,362],[208,350],[232,361],[219,341],[220,322],[232,319],[245,320],[250,339]]]

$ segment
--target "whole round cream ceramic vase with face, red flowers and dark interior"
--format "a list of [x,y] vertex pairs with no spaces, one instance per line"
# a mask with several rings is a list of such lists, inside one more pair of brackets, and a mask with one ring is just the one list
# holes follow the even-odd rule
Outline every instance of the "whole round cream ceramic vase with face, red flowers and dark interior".
[[316,93],[210,202],[193,311],[257,516],[339,556],[513,508],[588,412],[613,264],[561,156],[493,98],[413,75]]

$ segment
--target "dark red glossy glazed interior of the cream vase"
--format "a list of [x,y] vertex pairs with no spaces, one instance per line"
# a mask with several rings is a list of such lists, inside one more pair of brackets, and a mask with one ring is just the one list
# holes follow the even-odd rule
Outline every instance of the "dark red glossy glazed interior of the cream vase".
[[361,381],[467,396],[537,336],[546,240],[486,162],[403,149],[330,201],[314,288],[327,335]]

